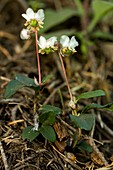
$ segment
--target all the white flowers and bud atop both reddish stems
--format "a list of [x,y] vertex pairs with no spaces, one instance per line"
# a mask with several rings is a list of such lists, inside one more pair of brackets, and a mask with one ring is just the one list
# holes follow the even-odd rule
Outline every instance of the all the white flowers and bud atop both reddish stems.
[[[23,29],[21,31],[20,37],[21,39],[29,39],[30,34],[34,29],[39,30],[43,26],[44,20],[44,11],[43,9],[39,9],[36,13],[28,8],[26,10],[26,14],[22,14],[22,17],[26,19],[25,26],[27,29]],[[37,42],[40,49],[39,53],[41,54],[49,54],[50,52],[54,52],[58,50],[58,41],[57,37],[51,37],[49,39],[45,39],[45,37],[40,36],[39,41]],[[76,52],[75,47],[78,46],[78,42],[73,36],[71,39],[67,35],[62,35],[60,38],[60,53],[62,56],[70,55]]]

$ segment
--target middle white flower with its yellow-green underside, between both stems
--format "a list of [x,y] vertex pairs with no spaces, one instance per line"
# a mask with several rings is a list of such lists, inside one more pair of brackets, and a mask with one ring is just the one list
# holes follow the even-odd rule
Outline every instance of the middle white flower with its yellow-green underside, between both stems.
[[45,37],[40,36],[38,41],[38,45],[40,47],[39,53],[48,54],[57,50],[57,46],[55,46],[55,43],[57,43],[57,37],[51,37],[46,40]]

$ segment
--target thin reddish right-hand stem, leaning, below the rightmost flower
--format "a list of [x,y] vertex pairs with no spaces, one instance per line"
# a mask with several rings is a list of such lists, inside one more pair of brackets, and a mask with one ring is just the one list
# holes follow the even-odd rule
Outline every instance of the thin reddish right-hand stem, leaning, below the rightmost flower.
[[68,91],[69,91],[70,99],[72,100],[73,97],[72,97],[71,89],[70,89],[69,82],[68,82],[68,79],[67,79],[66,70],[65,70],[65,67],[64,67],[64,62],[63,62],[63,59],[62,59],[62,56],[61,56],[60,52],[59,52],[59,57],[60,57],[61,65],[62,65],[62,70],[64,72],[66,85],[67,85],[67,88],[68,88]]

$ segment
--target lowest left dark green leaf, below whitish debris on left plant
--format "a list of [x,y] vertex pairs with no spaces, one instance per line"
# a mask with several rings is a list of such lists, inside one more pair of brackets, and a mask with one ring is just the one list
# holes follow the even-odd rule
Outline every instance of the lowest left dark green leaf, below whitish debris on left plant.
[[22,139],[28,139],[30,141],[34,140],[38,135],[39,131],[33,130],[33,126],[27,126],[22,133]]

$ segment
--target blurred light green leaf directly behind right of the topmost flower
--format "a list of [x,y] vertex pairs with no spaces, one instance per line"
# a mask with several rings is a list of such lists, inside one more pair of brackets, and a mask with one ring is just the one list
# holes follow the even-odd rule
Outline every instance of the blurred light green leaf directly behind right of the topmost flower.
[[76,15],[79,15],[79,12],[75,11],[75,9],[63,8],[59,11],[47,9],[45,10],[46,18],[44,20],[44,28],[40,31],[40,33],[42,34]]

